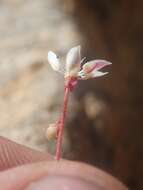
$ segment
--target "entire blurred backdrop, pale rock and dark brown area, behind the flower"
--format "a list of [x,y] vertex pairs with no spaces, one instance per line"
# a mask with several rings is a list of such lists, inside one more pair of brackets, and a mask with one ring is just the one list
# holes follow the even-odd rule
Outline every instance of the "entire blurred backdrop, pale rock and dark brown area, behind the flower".
[[76,87],[63,155],[142,190],[142,10],[141,0],[0,1],[0,134],[54,152],[45,129],[58,117],[63,78],[49,67],[47,51],[64,56],[81,44],[87,60],[113,65],[108,76]]

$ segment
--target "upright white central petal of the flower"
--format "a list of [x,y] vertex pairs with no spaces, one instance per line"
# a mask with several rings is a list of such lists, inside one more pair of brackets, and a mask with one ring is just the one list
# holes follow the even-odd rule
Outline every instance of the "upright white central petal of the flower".
[[70,74],[70,72],[77,74],[80,70],[80,46],[76,46],[71,48],[66,57],[66,73]]

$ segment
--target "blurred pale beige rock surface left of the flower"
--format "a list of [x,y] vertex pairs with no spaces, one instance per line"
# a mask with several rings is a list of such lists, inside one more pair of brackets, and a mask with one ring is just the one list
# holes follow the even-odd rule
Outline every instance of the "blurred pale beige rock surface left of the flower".
[[63,93],[47,52],[64,55],[78,43],[74,24],[56,0],[3,0],[0,25],[0,135],[47,150],[45,129]]

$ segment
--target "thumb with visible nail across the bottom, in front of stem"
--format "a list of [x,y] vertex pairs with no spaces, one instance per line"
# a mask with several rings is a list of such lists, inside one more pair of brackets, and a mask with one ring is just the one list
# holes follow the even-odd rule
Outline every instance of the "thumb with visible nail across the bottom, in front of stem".
[[83,163],[48,161],[0,173],[4,190],[127,190],[105,172]]

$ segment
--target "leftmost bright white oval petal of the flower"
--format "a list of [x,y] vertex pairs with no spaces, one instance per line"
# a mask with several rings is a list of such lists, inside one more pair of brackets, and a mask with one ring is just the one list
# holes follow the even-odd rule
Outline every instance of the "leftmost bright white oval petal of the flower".
[[52,52],[52,51],[49,51],[48,52],[48,61],[51,65],[51,67],[55,70],[55,71],[59,71],[60,70],[60,62],[59,62],[59,59],[57,57],[57,55]]

